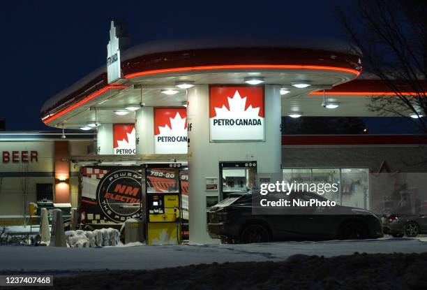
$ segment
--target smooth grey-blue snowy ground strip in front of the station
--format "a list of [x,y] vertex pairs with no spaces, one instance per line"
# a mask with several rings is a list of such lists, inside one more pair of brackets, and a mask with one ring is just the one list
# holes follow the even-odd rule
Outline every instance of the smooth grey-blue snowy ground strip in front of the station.
[[339,256],[354,252],[421,253],[427,242],[416,239],[274,242],[248,245],[179,245],[55,248],[0,247],[1,271],[149,270],[200,263],[283,261],[294,254]]

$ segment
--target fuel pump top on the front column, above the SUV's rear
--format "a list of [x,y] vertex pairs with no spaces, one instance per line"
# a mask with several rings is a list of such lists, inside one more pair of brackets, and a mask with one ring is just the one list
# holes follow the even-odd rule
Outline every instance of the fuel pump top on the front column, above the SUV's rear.
[[229,194],[250,191],[255,185],[257,161],[224,161],[219,164],[220,198]]

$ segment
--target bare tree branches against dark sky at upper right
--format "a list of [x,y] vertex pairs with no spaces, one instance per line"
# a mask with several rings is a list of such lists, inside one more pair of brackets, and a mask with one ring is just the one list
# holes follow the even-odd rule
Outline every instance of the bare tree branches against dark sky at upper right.
[[418,119],[410,119],[427,133],[427,1],[355,0],[347,6],[333,5],[354,52],[362,52],[368,71],[395,94],[370,96],[369,110],[406,118],[416,115]]

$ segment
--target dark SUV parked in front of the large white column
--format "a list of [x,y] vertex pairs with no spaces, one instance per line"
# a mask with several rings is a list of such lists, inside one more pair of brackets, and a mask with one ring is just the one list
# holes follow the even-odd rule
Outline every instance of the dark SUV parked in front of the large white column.
[[[382,237],[381,220],[368,210],[340,205],[290,207],[281,208],[275,215],[254,215],[253,198],[256,201],[263,196],[259,191],[230,194],[214,205],[209,212],[208,229],[211,238],[220,238],[223,242],[248,243]],[[292,193],[288,198],[327,201],[310,192]],[[254,206],[260,205],[255,202]],[[299,212],[296,214],[295,210]]]

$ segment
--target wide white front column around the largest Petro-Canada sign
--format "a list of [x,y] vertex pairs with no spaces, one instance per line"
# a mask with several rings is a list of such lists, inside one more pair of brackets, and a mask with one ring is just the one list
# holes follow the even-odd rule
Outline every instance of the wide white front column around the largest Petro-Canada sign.
[[206,178],[218,178],[220,161],[257,161],[258,173],[277,173],[281,163],[280,86],[266,85],[264,90],[265,140],[249,142],[210,142],[209,85],[188,89],[188,167],[190,243],[218,243],[207,232]]

